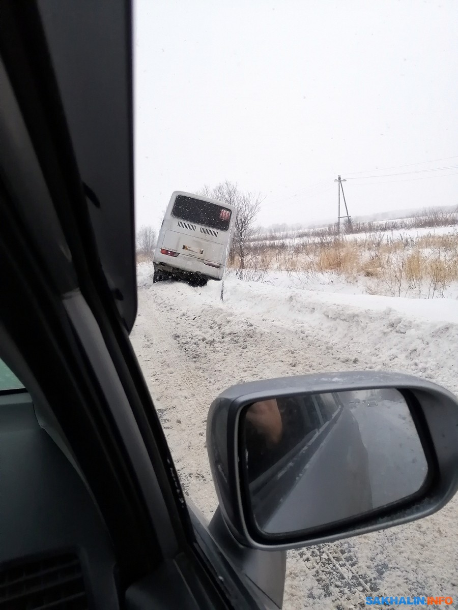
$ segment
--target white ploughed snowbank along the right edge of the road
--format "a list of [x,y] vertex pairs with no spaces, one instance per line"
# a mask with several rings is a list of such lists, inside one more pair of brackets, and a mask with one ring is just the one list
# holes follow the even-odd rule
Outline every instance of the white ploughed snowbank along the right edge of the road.
[[[151,271],[141,273],[150,285]],[[195,300],[216,307],[224,317],[231,313],[251,318],[267,328],[284,327],[329,343],[349,358],[369,354],[369,368],[413,373],[434,379],[458,393],[458,302],[454,299],[393,298],[365,294],[282,288],[259,282],[225,281],[224,302],[220,282],[195,289],[184,283],[158,286],[162,298],[173,303]],[[349,287],[347,287],[349,289]]]

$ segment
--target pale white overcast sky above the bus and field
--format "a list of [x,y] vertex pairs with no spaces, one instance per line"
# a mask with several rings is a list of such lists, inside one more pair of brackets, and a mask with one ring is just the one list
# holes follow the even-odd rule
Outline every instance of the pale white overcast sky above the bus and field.
[[339,173],[352,215],[458,204],[457,32],[457,0],[137,0],[137,226],[225,179],[264,226],[335,217]]

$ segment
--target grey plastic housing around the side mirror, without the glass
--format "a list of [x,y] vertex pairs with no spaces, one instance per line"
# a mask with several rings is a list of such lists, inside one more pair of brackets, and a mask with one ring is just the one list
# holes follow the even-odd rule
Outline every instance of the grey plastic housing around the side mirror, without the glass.
[[[253,403],[280,397],[382,389],[401,392],[415,422],[428,465],[427,481],[420,492],[395,505],[313,528],[294,538],[281,534],[264,536],[253,525],[242,484],[239,459],[242,412]],[[208,457],[225,522],[240,544],[260,550],[286,550],[332,542],[431,515],[451,500],[458,489],[457,440],[458,401],[452,393],[415,376],[375,371],[324,373],[240,384],[214,400],[207,419]]]

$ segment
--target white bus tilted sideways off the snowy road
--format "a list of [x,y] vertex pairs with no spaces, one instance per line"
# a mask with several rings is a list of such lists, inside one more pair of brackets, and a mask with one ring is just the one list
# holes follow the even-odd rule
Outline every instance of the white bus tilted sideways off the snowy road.
[[154,251],[153,282],[181,278],[205,285],[222,279],[235,220],[234,206],[175,191]]

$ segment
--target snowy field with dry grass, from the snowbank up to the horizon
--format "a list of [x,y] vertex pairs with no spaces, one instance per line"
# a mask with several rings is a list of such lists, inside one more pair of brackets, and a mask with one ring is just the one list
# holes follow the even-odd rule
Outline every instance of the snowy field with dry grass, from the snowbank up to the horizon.
[[236,273],[238,279],[282,287],[457,298],[458,227],[373,229],[340,238],[326,232],[272,237],[251,243],[244,269]]

